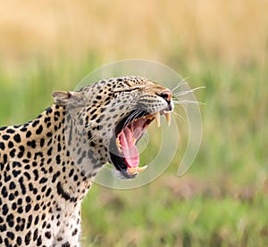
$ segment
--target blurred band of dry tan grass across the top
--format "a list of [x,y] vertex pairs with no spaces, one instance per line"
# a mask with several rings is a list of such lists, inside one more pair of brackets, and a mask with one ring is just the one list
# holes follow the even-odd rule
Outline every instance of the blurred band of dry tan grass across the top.
[[[102,61],[163,61],[176,49],[226,62],[264,60],[268,1],[2,1],[0,51],[16,62],[36,54]],[[184,59],[184,58],[182,58]]]

